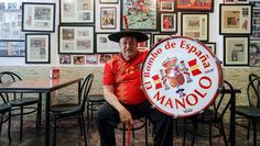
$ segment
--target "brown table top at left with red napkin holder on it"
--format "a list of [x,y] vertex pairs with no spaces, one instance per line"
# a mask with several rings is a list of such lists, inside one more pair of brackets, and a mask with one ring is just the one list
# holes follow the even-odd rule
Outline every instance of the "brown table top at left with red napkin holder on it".
[[26,79],[17,82],[0,83],[0,91],[19,92],[19,91],[42,91],[50,92],[63,87],[82,81],[83,78],[58,78],[58,79]]

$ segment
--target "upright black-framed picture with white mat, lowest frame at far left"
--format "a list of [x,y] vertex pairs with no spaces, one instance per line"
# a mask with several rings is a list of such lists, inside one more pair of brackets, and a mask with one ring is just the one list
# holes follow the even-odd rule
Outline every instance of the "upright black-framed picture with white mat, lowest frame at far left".
[[25,34],[25,63],[50,64],[50,34]]

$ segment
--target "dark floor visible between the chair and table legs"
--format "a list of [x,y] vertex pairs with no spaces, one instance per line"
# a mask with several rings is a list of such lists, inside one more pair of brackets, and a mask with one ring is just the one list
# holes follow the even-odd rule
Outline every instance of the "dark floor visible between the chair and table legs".
[[[0,138],[0,146],[42,146],[44,145],[44,128],[42,131],[36,132],[34,121],[26,120],[24,122],[24,131],[23,131],[23,141],[19,142],[19,119],[13,117],[12,119],[12,142],[8,142],[7,137],[7,124],[4,123],[2,136]],[[65,123],[66,124],[66,123]],[[149,146],[152,146],[152,126],[149,128]],[[174,146],[182,146],[182,123],[178,122],[178,131],[180,136],[174,133]],[[199,131],[203,131],[202,128]],[[52,132],[52,131],[51,131]],[[240,128],[237,126],[237,136],[236,136],[236,144],[237,146],[251,146],[252,145],[252,138],[250,141],[247,141],[246,138],[246,130]],[[226,133],[228,134],[228,126],[226,126]],[[117,136],[117,145],[122,145],[122,132],[117,130],[116,131]],[[51,135],[52,137],[52,135]],[[251,136],[252,137],[252,136]],[[58,146],[83,146],[84,139],[80,135],[79,128],[62,128],[57,131],[57,145]],[[98,133],[95,126],[95,123],[91,123],[91,126],[88,132],[88,146],[99,146],[99,137]],[[132,146],[144,146],[144,131],[140,130],[136,132],[136,138],[132,138],[131,142]],[[191,133],[188,134],[186,145],[191,145]],[[197,146],[205,146],[209,145],[208,138],[206,137],[197,137],[195,145]],[[217,137],[213,139],[214,146],[224,145],[224,141],[221,137]]]

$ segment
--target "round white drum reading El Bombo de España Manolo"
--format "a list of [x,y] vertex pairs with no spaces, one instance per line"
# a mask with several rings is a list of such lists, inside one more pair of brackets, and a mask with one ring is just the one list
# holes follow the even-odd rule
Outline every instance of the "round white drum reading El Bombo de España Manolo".
[[191,116],[218,96],[219,61],[202,43],[170,37],[156,44],[144,60],[142,86],[149,101],[172,116]]

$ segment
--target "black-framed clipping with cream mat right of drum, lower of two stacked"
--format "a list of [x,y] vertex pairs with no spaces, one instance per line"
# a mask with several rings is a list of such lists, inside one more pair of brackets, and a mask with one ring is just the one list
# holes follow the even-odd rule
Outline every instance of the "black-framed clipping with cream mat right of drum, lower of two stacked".
[[224,36],[224,66],[248,66],[249,36]]

